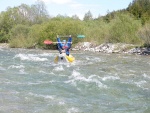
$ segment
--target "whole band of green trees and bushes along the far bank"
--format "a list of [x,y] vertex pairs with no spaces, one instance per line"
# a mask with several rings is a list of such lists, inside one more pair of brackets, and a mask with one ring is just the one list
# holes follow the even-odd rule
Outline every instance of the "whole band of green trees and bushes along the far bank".
[[[11,47],[43,48],[43,41],[57,35],[72,35],[73,43],[131,43],[150,45],[150,0],[133,0],[126,9],[93,18],[88,11],[83,20],[58,15],[51,17],[42,1],[29,6],[7,8],[0,13],[0,42]],[[86,38],[78,39],[78,34]]]

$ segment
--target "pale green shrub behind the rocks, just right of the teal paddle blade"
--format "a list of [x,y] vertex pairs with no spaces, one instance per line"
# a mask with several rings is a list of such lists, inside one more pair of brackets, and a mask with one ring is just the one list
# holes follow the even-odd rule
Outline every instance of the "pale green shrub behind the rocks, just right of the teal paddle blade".
[[102,19],[86,21],[84,26],[84,35],[86,38],[83,41],[101,44],[107,40],[109,25]]

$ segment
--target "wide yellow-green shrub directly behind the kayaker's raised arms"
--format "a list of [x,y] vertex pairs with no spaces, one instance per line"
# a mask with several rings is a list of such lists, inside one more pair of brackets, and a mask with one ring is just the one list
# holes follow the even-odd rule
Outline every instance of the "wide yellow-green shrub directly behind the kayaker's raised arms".
[[[45,39],[56,41],[57,35],[72,35],[73,42],[78,42],[76,36],[78,34],[83,34],[83,25],[80,20],[73,19],[52,19],[48,23],[43,25],[43,30],[41,32],[41,42]],[[63,38],[62,38],[63,40]]]

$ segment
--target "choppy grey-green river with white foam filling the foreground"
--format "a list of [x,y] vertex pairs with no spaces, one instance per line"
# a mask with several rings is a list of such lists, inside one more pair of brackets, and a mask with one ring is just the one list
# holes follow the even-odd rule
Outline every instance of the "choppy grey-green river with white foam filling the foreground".
[[150,57],[0,48],[0,113],[150,113]]

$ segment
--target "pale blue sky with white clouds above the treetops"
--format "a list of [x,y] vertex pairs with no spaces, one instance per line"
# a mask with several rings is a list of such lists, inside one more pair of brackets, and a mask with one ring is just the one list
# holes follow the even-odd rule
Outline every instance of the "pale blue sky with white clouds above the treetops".
[[[50,16],[77,15],[83,19],[85,13],[90,11],[93,18],[104,16],[109,12],[127,8],[133,0],[42,0]],[[16,7],[21,4],[33,5],[36,0],[0,0],[0,12],[8,7]]]

